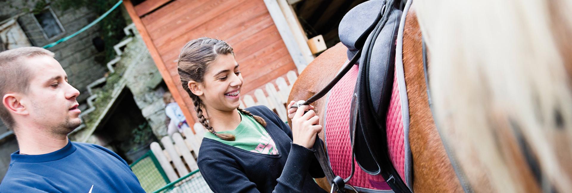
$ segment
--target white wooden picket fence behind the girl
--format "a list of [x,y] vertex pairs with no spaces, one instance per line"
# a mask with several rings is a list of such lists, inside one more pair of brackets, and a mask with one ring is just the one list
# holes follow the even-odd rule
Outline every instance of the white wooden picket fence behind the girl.
[[[279,77],[265,85],[266,93],[262,89],[256,89],[254,97],[244,95],[240,101],[240,107],[248,108],[249,106],[265,105],[269,109],[274,110],[282,121],[287,121],[288,115],[285,105],[288,102],[288,95],[290,95],[290,90],[297,79],[297,75],[296,72],[289,71],[286,77],[289,84],[283,77]],[[276,86],[273,83],[276,83]],[[196,159],[202,137],[204,137],[205,128],[200,123],[194,124],[193,128],[196,134],[190,128],[185,128],[183,130],[184,136],[180,133],[174,133],[171,137],[163,137],[161,144],[165,149],[161,149],[157,142],[153,142],[150,145],[151,151],[171,182],[198,169]]]

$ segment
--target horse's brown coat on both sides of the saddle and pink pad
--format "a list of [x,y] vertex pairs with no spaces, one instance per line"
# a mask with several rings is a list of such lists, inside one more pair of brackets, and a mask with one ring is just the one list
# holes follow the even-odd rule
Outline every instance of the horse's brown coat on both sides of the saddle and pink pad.
[[[413,154],[415,192],[462,192],[459,180],[444,150],[427,102],[423,73],[421,31],[415,13],[407,15],[403,39],[403,63],[410,112],[410,145]],[[303,100],[329,83],[347,60],[346,48],[338,43],[317,57],[300,74],[288,101]],[[323,125],[325,97],[312,104]],[[323,134],[320,134],[323,139]],[[349,167],[349,166],[348,166]],[[325,180],[317,180],[329,190]]]

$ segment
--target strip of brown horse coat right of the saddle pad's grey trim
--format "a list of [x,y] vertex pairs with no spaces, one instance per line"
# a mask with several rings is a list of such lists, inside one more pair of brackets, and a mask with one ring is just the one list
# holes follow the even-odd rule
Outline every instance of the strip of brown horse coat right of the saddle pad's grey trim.
[[403,68],[409,101],[409,138],[413,155],[415,192],[462,192],[447,157],[427,102],[422,38],[414,5],[407,13],[403,33]]

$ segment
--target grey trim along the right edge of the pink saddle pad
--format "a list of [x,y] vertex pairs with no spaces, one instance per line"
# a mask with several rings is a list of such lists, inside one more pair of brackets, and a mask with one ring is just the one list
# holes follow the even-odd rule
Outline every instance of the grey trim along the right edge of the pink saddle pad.
[[411,192],[413,192],[413,156],[411,154],[411,146],[409,145],[409,101],[407,99],[407,87],[405,84],[405,72],[403,69],[403,31],[405,27],[405,19],[407,17],[407,12],[411,7],[413,0],[407,1],[403,14],[401,16],[401,22],[399,23],[399,29],[397,34],[397,45],[395,47],[395,75],[399,88],[399,97],[401,98],[401,112],[403,118],[403,138],[404,138],[404,151],[405,151],[405,179],[407,186],[409,186]]

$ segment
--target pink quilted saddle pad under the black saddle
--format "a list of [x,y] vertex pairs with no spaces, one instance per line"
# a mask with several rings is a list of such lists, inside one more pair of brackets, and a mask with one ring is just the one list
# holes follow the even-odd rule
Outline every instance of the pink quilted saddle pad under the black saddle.
[[[404,177],[406,154],[405,137],[403,129],[403,113],[400,91],[397,83],[397,75],[394,76],[394,85],[387,113],[387,138],[391,161],[399,175],[407,184]],[[352,159],[351,141],[349,138],[349,119],[351,97],[358,78],[358,65],[355,65],[345,76],[331,89],[328,95],[325,115],[325,143],[329,157],[329,163],[335,175],[347,178],[351,173]],[[408,146],[407,146],[408,147]],[[370,175],[360,169],[355,163],[355,173],[348,184],[360,191],[391,191],[381,175]]]

